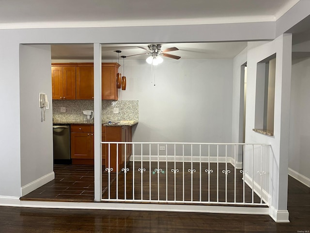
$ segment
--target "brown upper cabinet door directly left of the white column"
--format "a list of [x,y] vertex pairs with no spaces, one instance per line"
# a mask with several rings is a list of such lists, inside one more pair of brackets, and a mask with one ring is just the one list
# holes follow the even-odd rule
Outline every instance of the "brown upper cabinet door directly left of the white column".
[[77,100],[93,100],[93,66],[77,67]]

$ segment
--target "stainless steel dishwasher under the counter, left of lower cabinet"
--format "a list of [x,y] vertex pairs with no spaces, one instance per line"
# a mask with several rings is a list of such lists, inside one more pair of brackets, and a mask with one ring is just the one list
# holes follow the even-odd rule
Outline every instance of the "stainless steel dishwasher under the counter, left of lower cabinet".
[[53,125],[54,164],[71,164],[70,125]]

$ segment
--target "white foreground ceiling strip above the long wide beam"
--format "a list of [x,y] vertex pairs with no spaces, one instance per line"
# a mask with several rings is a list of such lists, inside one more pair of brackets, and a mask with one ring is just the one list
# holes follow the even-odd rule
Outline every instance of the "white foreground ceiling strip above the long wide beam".
[[0,0],[0,29],[275,21],[298,1]]

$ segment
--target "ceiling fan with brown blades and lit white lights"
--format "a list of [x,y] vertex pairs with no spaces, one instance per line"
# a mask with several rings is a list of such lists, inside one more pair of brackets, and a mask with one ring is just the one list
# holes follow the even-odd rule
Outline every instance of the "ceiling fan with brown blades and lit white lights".
[[167,48],[164,50],[161,50],[161,44],[149,44],[147,47],[148,48],[144,48],[144,47],[139,47],[140,49],[143,50],[147,50],[147,53],[140,53],[140,54],[134,54],[134,55],[130,55],[127,57],[131,57],[131,56],[137,56],[137,55],[142,55],[142,54],[149,54],[150,56],[146,59],[146,62],[149,64],[152,64],[154,66],[160,64],[163,62],[163,59],[160,56],[164,56],[164,57],[169,57],[169,58],[173,58],[173,59],[180,59],[180,56],[176,56],[176,55],[172,55],[166,52],[170,52],[170,51],[176,51],[179,50],[176,47],[171,47],[171,48]]

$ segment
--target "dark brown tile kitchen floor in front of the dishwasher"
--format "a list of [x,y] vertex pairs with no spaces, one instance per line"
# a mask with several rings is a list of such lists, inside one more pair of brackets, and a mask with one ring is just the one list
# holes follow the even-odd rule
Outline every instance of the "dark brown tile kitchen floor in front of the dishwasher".
[[[54,165],[54,172],[54,180],[21,197],[20,200],[93,202],[93,165]],[[106,175],[107,173],[103,172],[103,177]],[[112,174],[111,182],[113,180]],[[107,187],[104,181],[103,189]]]

